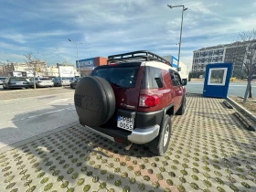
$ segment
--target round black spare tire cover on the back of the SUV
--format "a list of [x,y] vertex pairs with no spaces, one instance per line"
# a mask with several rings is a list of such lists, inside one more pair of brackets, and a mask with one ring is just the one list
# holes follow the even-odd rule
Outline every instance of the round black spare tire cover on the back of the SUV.
[[74,100],[80,123],[89,127],[106,123],[115,111],[112,86],[100,77],[82,78],[77,84]]

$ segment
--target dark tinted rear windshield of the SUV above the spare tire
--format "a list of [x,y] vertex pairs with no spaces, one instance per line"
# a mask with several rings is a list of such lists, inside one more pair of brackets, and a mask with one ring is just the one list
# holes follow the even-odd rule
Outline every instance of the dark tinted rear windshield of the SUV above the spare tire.
[[140,66],[94,69],[91,76],[101,77],[118,87],[133,88],[139,69]]

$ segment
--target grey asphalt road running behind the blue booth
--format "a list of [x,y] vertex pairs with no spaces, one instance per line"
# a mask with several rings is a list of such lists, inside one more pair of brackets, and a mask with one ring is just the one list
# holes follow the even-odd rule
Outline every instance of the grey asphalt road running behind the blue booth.
[[[247,83],[246,82],[240,82],[240,83],[229,83],[229,92],[228,95],[232,96],[244,96],[244,92],[246,90]],[[188,81],[187,82],[187,92],[193,92],[193,93],[203,93],[203,88],[204,88],[204,82],[193,82],[193,81]],[[256,93],[256,83],[253,81],[252,82],[252,95],[253,92],[254,94]]]

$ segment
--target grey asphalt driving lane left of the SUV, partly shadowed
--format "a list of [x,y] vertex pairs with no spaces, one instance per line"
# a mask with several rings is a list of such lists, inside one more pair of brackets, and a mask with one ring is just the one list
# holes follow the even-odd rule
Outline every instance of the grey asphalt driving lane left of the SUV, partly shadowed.
[[73,94],[70,90],[39,97],[0,98],[0,148],[78,121]]

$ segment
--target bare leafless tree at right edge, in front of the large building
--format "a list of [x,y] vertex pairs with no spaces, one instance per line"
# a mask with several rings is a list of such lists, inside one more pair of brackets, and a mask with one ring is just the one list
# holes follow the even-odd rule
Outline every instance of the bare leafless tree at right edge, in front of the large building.
[[245,103],[248,97],[252,98],[251,80],[252,76],[256,74],[256,30],[241,32],[239,39],[246,48],[242,60],[242,69],[247,76],[247,86],[243,98],[243,103]]

